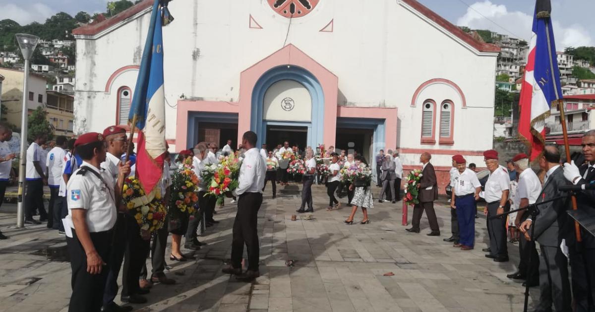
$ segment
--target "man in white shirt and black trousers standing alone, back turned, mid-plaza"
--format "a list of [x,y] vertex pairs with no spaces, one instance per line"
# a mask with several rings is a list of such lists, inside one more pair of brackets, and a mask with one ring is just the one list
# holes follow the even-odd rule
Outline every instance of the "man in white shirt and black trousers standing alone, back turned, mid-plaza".
[[[239,185],[233,191],[237,201],[236,219],[233,223],[231,266],[222,270],[237,276],[239,281],[252,281],[260,276],[258,270],[259,244],[257,232],[258,210],[262,204],[262,187],[267,165],[256,148],[256,133],[248,131],[242,136],[242,146],[248,151],[240,166]],[[242,274],[244,244],[248,248],[248,270]]]

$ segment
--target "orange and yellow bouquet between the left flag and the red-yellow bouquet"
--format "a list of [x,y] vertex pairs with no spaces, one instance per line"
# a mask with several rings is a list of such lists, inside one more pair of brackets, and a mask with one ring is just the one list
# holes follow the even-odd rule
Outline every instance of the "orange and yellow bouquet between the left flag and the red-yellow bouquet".
[[170,215],[181,218],[194,213],[194,205],[198,201],[198,182],[198,177],[192,171],[192,159],[184,160],[183,167],[176,169],[171,177]]

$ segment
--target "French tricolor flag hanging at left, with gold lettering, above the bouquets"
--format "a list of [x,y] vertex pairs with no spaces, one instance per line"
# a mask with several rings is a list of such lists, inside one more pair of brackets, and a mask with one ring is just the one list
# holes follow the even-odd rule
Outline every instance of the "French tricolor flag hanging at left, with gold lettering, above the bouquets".
[[136,117],[136,127],[139,130],[136,176],[146,194],[151,193],[161,179],[167,150],[162,26],[164,17],[167,20],[169,12],[164,3],[167,4],[163,0],[155,0],[153,5],[151,24],[129,115],[130,121]]

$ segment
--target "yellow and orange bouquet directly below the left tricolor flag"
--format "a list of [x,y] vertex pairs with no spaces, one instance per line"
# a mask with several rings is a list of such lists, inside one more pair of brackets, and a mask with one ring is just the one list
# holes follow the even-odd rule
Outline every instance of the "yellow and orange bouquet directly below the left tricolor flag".
[[[167,215],[167,210],[161,199],[161,189],[155,187],[149,194],[145,194],[138,178],[126,178],[122,200],[127,212],[136,219],[140,226],[141,236],[147,239],[148,235],[161,229]],[[143,233],[144,232],[144,233]],[[149,236],[150,237],[150,236]]]

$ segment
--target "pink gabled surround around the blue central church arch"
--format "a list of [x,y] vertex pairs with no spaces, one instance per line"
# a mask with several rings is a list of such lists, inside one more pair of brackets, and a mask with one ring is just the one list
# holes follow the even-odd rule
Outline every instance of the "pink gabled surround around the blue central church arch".
[[258,79],[271,68],[278,66],[301,67],[318,79],[324,93],[324,135],[322,142],[334,145],[337,131],[337,96],[339,78],[327,68],[314,61],[294,45],[287,45],[267,56],[240,74],[239,118],[237,123],[238,141],[245,131],[250,130],[252,92]]

